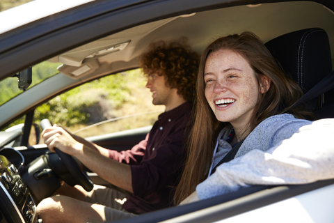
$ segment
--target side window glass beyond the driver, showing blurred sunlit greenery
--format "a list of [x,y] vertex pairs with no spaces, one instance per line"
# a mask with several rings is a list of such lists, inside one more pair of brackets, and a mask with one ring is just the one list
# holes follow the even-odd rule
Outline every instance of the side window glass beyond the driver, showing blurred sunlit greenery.
[[152,125],[164,106],[152,105],[141,69],[95,79],[35,109],[35,123],[49,118],[81,137]]

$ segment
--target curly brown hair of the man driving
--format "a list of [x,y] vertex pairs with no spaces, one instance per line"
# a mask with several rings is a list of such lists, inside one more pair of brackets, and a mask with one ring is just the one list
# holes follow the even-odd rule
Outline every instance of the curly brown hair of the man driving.
[[166,86],[177,89],[184,100],[193,102],[200,56],[186,45],[186,39],[166,43],[151,43],[141,55],[140,65],[145,75],[164,75]]

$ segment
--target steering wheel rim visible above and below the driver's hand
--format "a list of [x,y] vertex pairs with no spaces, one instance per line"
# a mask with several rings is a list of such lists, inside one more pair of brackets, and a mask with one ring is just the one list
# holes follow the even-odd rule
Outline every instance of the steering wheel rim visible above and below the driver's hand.
[[[51,126],[52,125],[49,119],[43,119],[42,121],[40,121],[40,127],[42,128],[42,130],[44,130],[45,128],[51,127]],[[93,190],[94,183],[92,182],[92,180],[90,180],[86,172],[82,171],[79,168],[79,165],[77,164],[77,162],[75,162],[73,157],[71,155],[68,155],[67,153],[63,153],[58,148],[54,148],[54,151],[56,151],[58,157],[61,158],[61,161],[63,162],[67,170],[70,171],[70,174],[73,176],[76,183],[78,185],[81,185],[81,187],[83,187],[87,192],[90,192],[91,190]],[[72,184],[70,182],[66,182],[66,183],[69,185]]]

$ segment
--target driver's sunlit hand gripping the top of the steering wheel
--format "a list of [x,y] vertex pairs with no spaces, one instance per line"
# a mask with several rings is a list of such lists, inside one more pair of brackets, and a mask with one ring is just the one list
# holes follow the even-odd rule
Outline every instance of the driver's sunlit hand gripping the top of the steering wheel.
[[73,137],[63,128],[54,125],[50,128],[46,128],[42,132],[42,137],[45,144],[54,152],[54,148],[58,148],[69,155],[79,155],[82,153],[83,144],[73,139]]

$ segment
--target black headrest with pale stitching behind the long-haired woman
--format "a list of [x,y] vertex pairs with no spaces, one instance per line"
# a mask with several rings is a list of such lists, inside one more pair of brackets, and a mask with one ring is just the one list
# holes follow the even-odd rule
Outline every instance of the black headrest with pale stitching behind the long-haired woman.
[[324,29],[294,31],[265,45],[303,93],[332,71],[331,49]]

